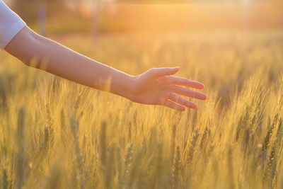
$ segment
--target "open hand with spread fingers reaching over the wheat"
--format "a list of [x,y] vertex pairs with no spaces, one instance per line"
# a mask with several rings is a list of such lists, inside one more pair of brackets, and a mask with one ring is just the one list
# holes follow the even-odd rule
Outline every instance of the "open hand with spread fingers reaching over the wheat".
[[204,84],[189,79],[172,76],[180,67],[153,68],[134,77],[132,101],[144,104],[165,105],[169,108],[184,111],[196,108],[197,105],[181,96],[205,100],[207,95],[190,88],[202,89]]

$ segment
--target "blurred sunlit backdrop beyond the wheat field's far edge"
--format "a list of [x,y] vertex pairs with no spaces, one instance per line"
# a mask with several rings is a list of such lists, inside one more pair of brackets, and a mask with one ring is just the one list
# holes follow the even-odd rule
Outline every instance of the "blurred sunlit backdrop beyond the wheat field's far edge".
[[31,28],[47,35],[283,28],[282,0],[4,1]]

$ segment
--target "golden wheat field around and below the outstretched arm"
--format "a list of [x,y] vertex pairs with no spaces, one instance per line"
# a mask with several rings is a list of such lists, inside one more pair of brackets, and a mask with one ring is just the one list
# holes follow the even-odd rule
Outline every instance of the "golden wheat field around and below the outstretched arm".
[[283,33],[53,36],[128,74],[180,66],[207,101],[140,105],[0,54],[0,188],[282,188]]

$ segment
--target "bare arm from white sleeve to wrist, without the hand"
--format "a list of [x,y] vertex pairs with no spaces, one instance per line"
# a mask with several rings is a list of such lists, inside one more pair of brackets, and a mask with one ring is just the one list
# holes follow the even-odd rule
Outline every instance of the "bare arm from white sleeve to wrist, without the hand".
[[28,66],[126,98],[131,96],[134,86],[132,76],[43,38],[28,28],[23,28],[16,35],[6,51]]

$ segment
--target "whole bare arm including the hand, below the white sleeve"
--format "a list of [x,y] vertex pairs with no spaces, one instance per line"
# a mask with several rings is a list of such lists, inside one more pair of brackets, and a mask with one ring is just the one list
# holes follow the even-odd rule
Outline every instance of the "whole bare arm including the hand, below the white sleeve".
[[[107,89],[137,103],[166,105],[185,110],[184,106],[195,108],[196,105],[179,95],[202,100],[206,98],[203,93],[181,87],[201,89],[203,84],[171,76],[179,70],[178,67],[150,69],[139,76],[130,76],[37,35],[28,27],[23,28],[13,38],[5,50],[28,66],[99,90]],[[30,64],[33,59],[37,60],[37,64]]]

